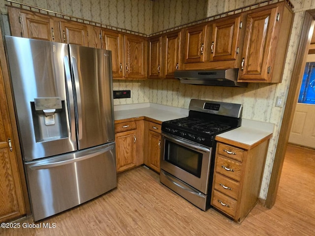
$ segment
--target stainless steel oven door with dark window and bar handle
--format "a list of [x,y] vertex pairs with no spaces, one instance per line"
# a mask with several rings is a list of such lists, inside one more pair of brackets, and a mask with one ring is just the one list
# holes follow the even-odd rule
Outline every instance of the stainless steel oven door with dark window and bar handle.
[[208,194],[212,148],[165,133],[162,133],[161,145],[161,170]]

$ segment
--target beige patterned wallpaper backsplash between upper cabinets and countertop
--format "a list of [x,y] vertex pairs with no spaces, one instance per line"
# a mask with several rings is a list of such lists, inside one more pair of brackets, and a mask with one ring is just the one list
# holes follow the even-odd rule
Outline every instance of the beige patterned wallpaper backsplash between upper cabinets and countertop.
[[270,122],[277,85],[250,83],[248,88],[181,84],[179,80],[113,83],[114,90],[131,90],[131,98],[114,105],[152,102],[188,109],[191,98],[244,104],[243,118]]

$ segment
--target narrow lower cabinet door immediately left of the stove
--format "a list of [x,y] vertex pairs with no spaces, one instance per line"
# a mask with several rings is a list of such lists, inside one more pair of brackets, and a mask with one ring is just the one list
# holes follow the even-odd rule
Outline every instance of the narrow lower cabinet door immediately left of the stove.
[[161,151],[161,135],[157,132],[149,130],[149,167],[159,172],[160,151]]

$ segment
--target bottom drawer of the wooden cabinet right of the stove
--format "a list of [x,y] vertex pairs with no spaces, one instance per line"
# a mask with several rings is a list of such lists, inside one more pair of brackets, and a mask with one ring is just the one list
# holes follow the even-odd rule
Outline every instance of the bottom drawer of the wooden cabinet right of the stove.
[[223,193],[214,190],[211,204],[227,215],[231,217],[235,216],[237,201],[224,195]]

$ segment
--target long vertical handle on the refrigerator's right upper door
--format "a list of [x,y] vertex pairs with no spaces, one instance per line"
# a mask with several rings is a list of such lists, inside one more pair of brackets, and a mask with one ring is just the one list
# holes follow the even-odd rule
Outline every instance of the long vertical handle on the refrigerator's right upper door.
[[82,107],[81,107],[81,93],[80,93],[80,81],[79,81],[79,71],[77,66],[77,59],[71,57],[72,71],[74,77],[74,85],[77,100],[77,112],[78,112],[78,135],[79,140],[82,139]]

